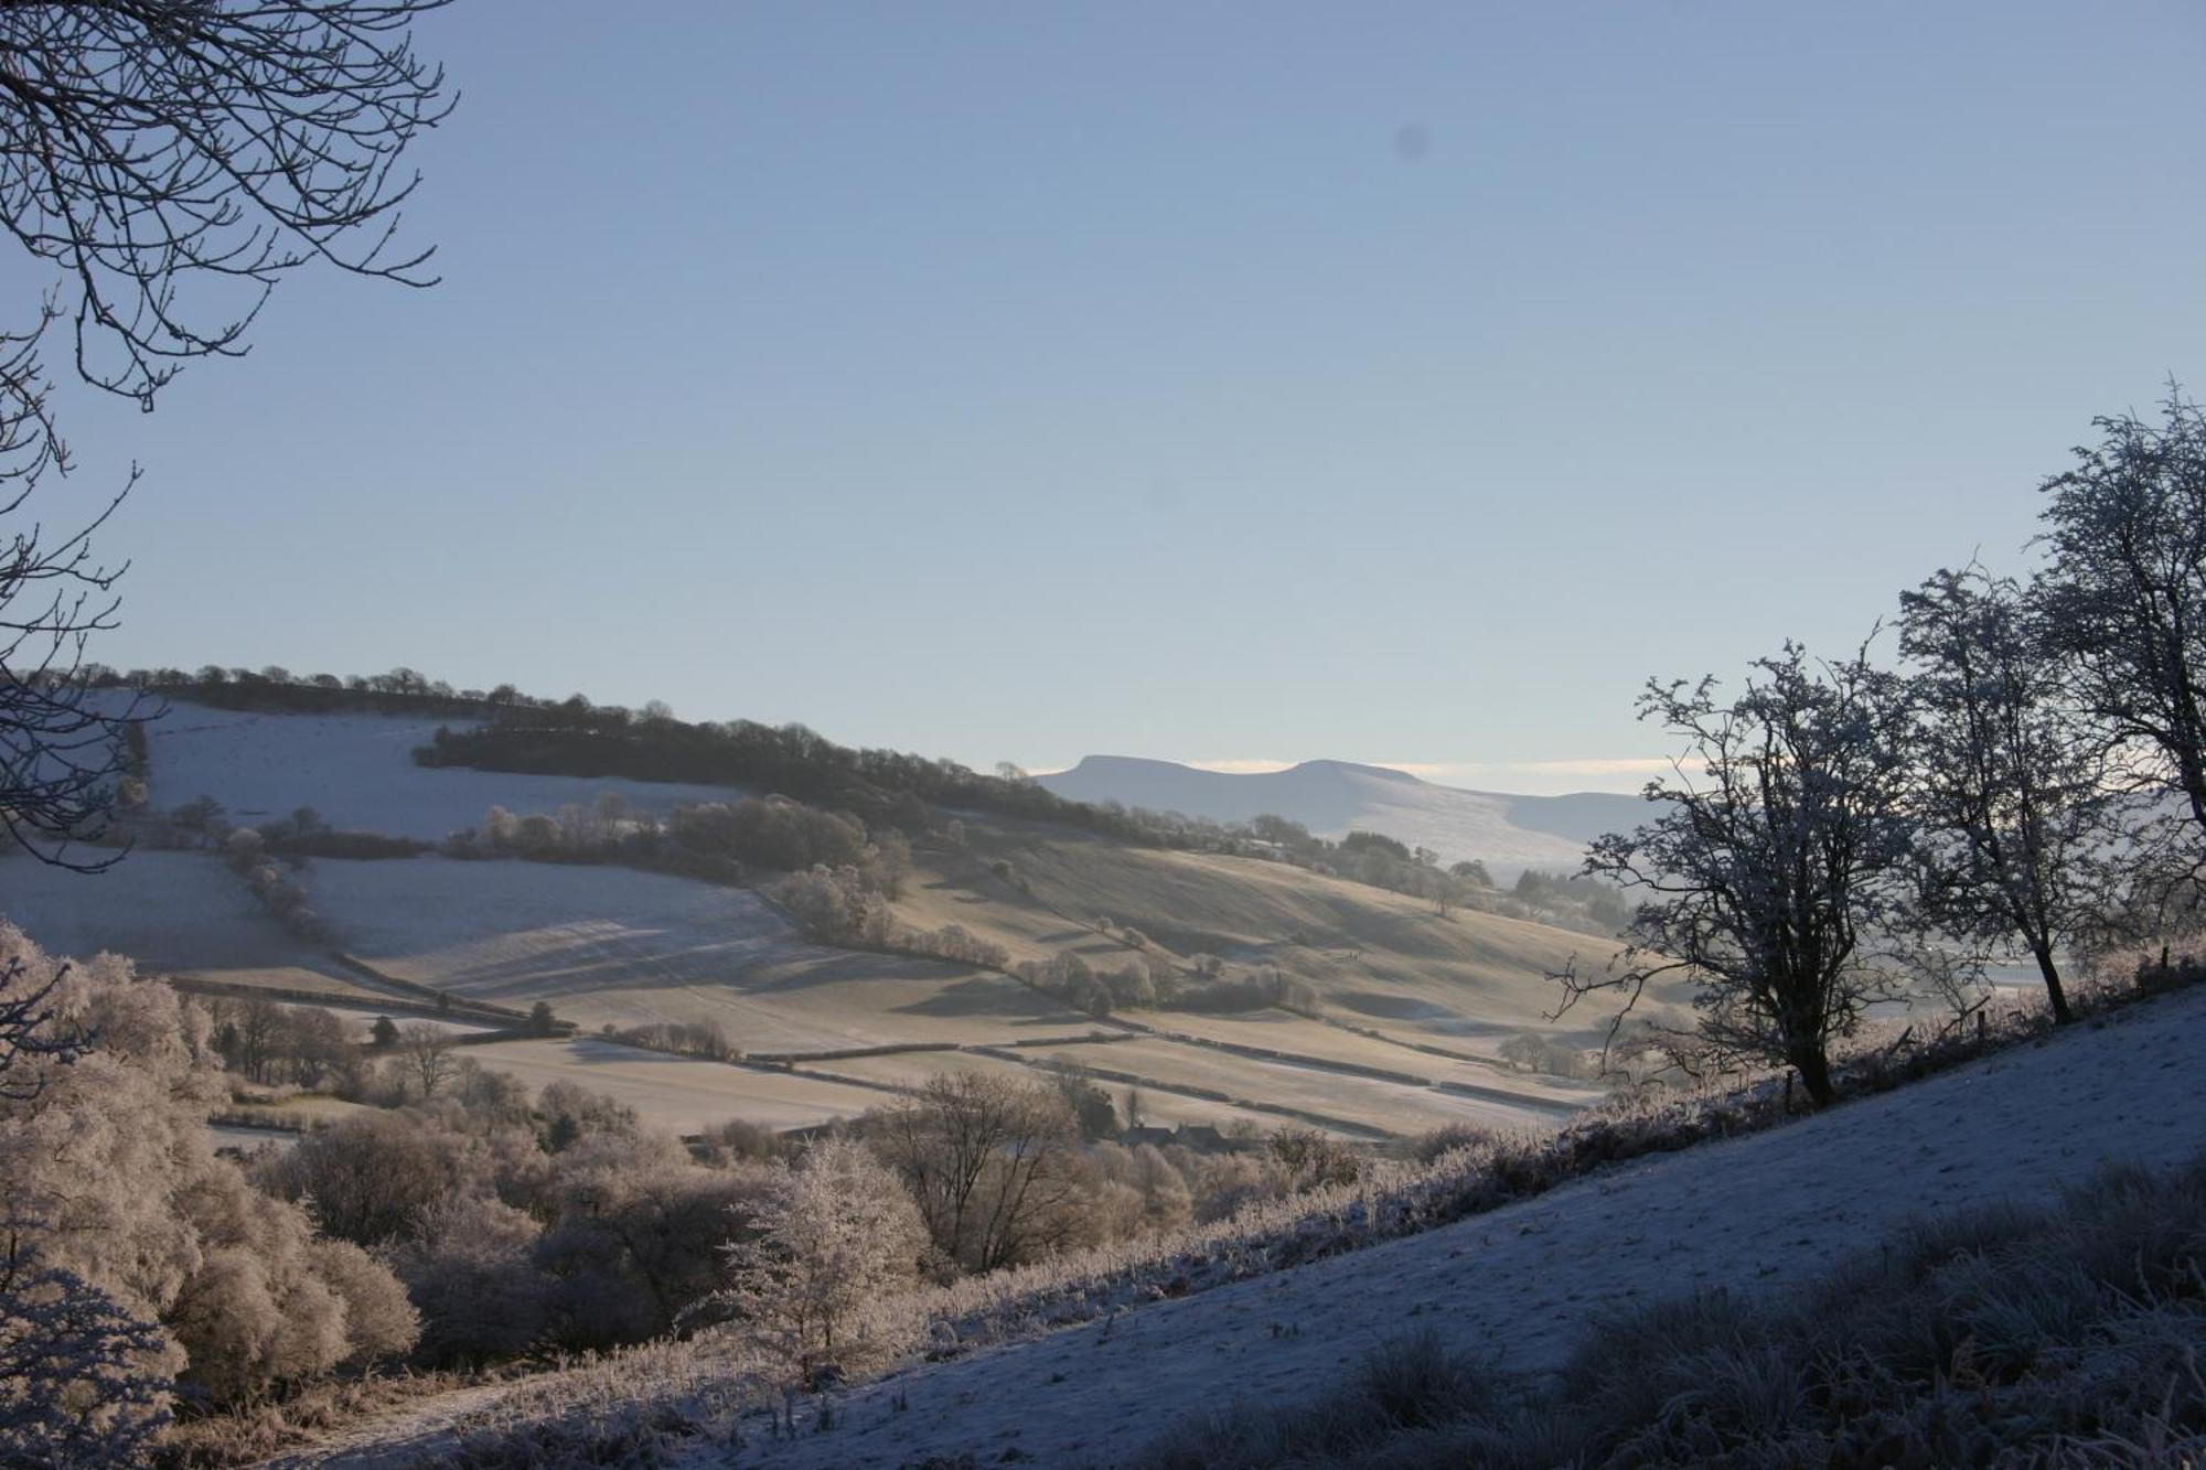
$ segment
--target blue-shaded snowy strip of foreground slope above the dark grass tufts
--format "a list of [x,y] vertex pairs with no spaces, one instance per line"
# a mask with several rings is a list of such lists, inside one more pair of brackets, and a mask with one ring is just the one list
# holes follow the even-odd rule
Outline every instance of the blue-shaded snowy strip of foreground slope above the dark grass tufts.
[[1551,1368],[1604,1309],[1780,1287],[1921,1214],[2043,1199],[2109,1159],[2188,1157],[2206,1146],[2202,1026],[2206,993],[2164,998],[2102,1029],[1423,1236],[920,1366],[854,1391],[832,1432],[754,1437],[741,1463],[971,1455],[986,1466],[1017,1448],[1028,1463],[1110,1466],[1180,1415],[1235,1397],[1308,1402],[1416,1329],[1504,1368]]

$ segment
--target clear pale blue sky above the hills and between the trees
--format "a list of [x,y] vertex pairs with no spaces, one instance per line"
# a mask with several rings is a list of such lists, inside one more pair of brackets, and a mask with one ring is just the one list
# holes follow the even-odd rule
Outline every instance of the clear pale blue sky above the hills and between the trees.
[[302,276],[154,415],[71,400],[49,519],[148,468],[95,656],[1628,788],[1646,675],[2018,565],[2093,413],[2206,388],[2195,0],[463,0],[421,44],[446,283]]

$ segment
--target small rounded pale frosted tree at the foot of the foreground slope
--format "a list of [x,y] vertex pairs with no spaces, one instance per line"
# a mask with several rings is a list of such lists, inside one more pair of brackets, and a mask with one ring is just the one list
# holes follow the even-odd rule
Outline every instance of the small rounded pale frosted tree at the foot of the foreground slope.
[[898,1298],[918,1280],[927,1227],[865,1146],[821,1139],[796,1168],[777,1170],[728,1245],[726,1300],[770,1351],[814,1386],[893,1357],[913,1313]]

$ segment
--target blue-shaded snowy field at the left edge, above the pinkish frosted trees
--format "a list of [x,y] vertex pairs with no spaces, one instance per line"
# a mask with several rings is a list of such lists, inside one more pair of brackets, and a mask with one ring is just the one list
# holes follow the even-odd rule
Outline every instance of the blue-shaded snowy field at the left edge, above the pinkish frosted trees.
[[93,874],[0,854],[0,918],[53,954],[113,949],[148,973],[368,995],[326,956],[291,938],[245,881],[207,852],[139,850]]

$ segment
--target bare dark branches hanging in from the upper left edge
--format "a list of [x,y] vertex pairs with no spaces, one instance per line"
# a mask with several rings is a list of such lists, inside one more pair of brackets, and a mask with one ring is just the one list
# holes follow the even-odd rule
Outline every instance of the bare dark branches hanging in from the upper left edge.
[[53,271],[0,329],[0,823],[46,861],[97,837],[135,700],[84,689],[115,627],[121,565],[26,503],[71,455],[42,344],[66,322],[73,373],[152,408],[194,358],[238,355],[300,265],[430,285],[395,249],[399,172],[450,108],[413,22],[446,0],[101,0],[0,4],[0,225]]

